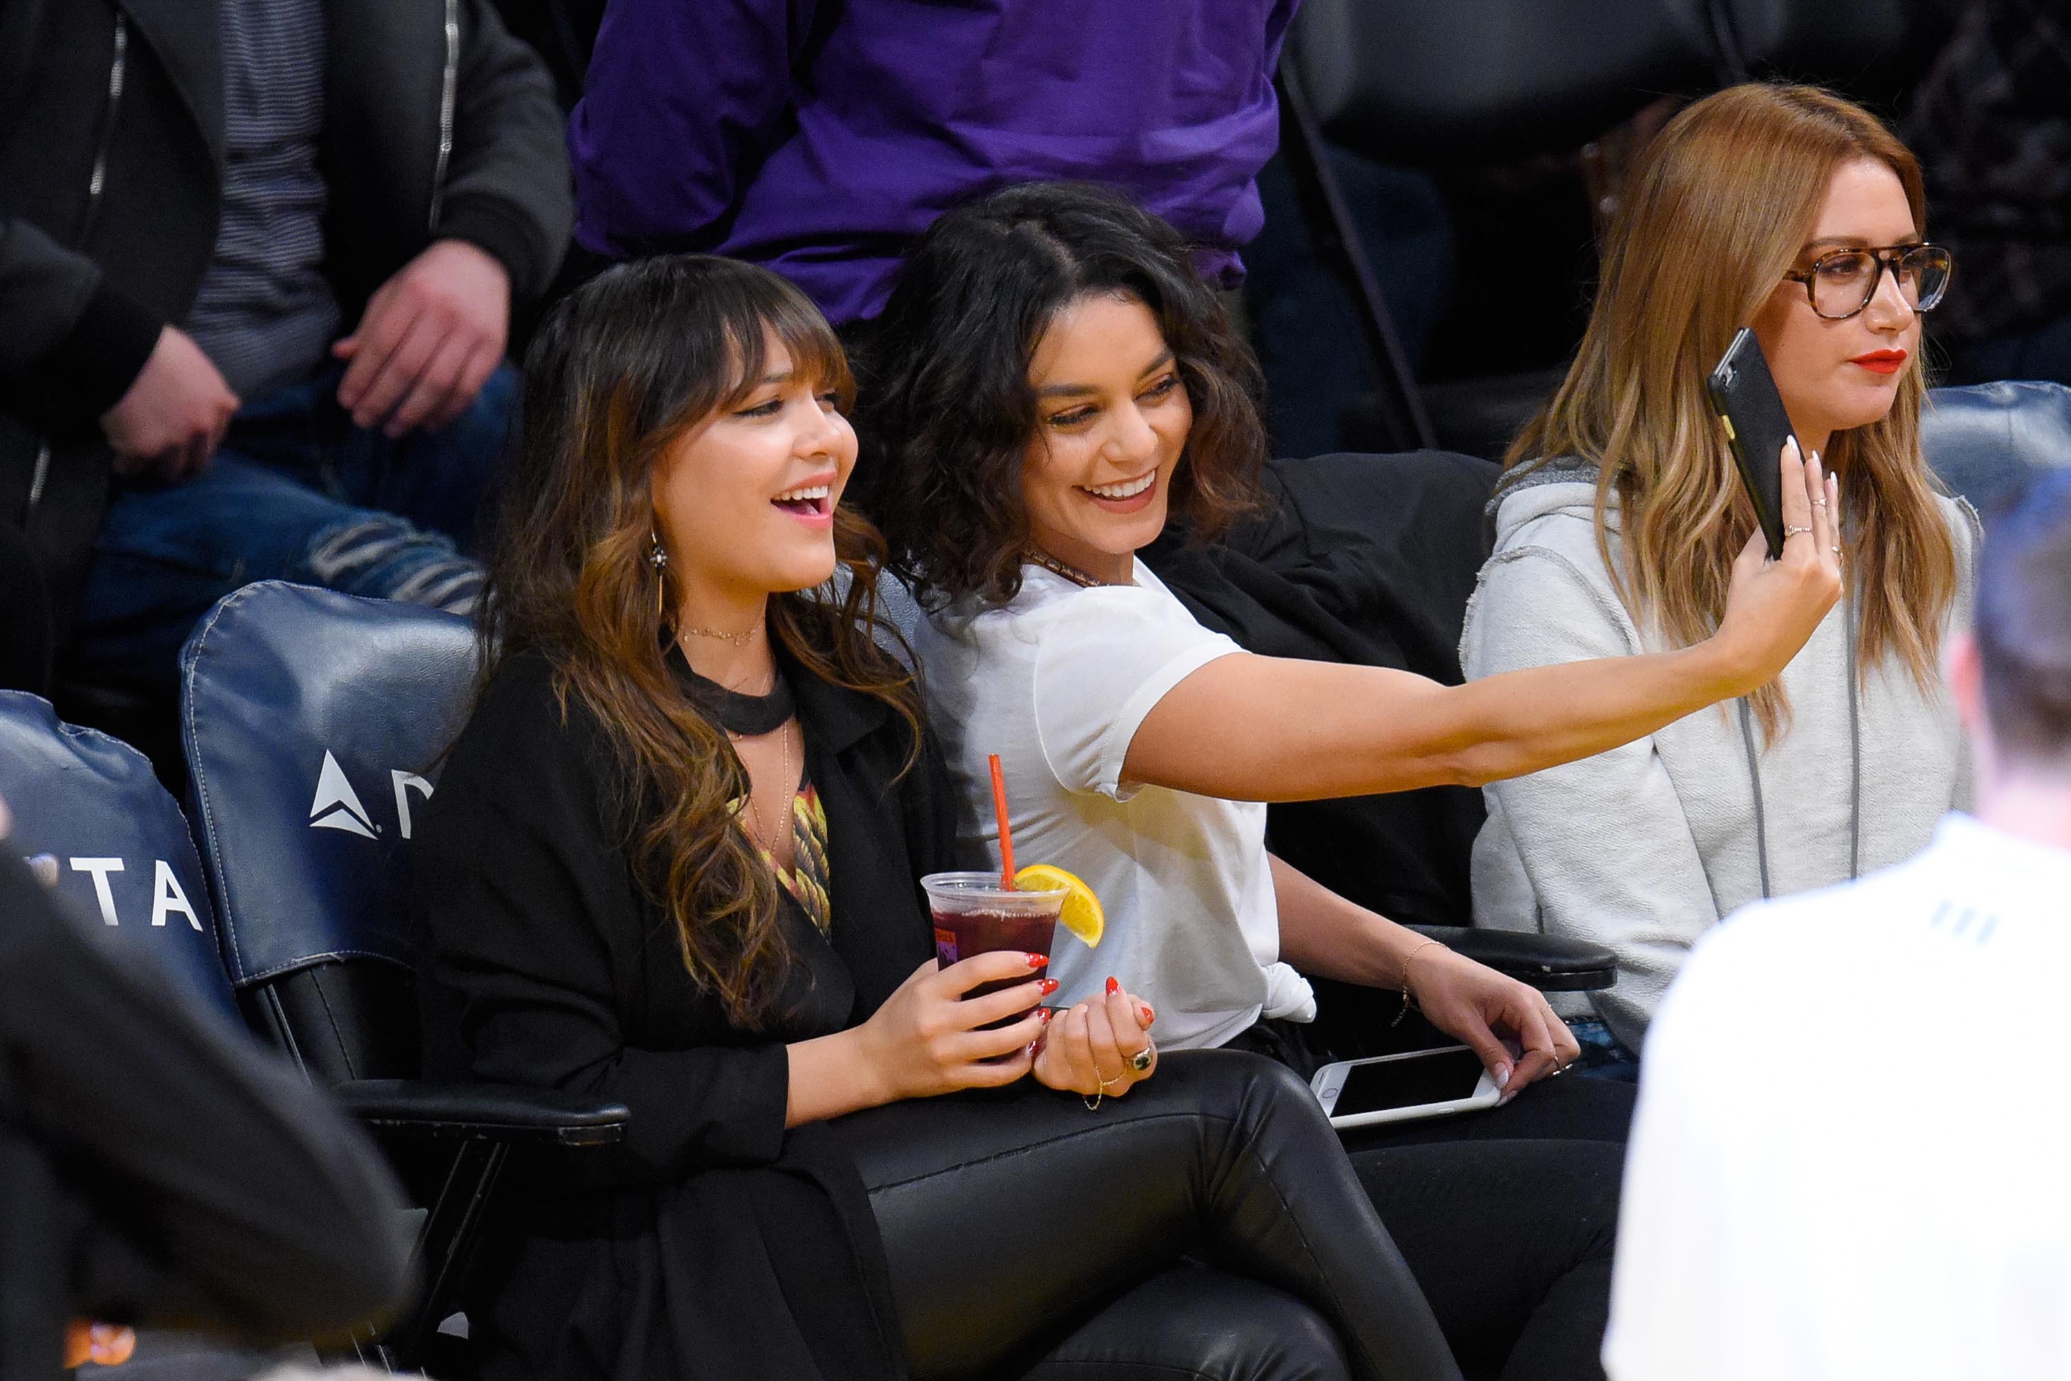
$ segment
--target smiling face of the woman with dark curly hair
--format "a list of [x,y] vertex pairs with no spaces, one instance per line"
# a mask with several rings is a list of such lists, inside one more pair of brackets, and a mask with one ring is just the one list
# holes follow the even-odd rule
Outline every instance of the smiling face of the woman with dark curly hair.
[[1029,360],[1036,435],[1021,499],[1036,547],[1096,580],[1129,580],[1166,524],[1193,402],[1151,311],[1087,294],[1050,319]]

